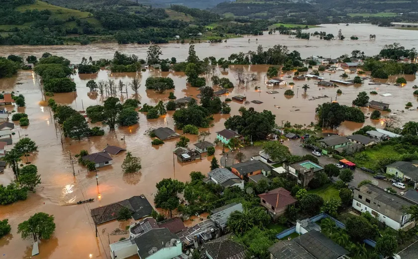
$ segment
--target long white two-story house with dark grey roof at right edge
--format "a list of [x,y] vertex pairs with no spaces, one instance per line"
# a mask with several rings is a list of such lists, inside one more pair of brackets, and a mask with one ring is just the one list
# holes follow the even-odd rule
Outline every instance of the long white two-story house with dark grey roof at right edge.
[[354,189],[353,208],[360,212],[368,211],[380,222],[395,230],[414,226],[411,214],[404,211],[404,208],[413,205],[417,203],[371,183]]

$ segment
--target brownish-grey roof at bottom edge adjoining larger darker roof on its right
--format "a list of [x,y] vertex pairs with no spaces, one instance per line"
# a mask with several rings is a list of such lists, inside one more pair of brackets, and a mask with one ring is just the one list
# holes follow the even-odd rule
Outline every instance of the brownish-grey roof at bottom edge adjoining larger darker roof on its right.
[[279,241],[269,248],[269,252],[277,259],[315,259],[293,240]]

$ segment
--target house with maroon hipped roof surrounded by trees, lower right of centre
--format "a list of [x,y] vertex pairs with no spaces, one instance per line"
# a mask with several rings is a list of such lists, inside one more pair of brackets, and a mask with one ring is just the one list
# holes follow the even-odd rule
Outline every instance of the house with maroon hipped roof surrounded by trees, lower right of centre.
[[298,200],[293,198],[285,188],[277,188],[262,194],[259,194],[260,203],[266,207],[273,217],[283,215],[289,205],[295,204]]

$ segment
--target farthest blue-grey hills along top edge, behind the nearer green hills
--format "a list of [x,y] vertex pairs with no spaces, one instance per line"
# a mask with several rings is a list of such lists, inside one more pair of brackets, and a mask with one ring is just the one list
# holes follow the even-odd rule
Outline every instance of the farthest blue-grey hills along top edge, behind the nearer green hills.
[[[132,2],[138,4],[152,5],[153,7],[169,7],[171,4],[185,5],[191,8],[212,8],[220,2],[225,0],[123,0],[126,2],[126,5],[132,5]],[[112,4],[111,2],[119,2],[120,0],[48,0],[49,3],[67,7],[67,8],[87,8],[87,7],[96,7],[99,4]],[[113,3],[114,4],[114,3]]]

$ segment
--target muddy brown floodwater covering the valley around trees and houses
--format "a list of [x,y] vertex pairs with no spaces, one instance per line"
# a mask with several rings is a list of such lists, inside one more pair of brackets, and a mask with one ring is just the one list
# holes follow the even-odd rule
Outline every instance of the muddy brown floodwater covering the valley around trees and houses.
[[[337,25],[332,25],[337,26]],[[352,30],[361,28],[364,25],[350,25],[343,28],[343,30]],[[371,25],[368,28],[371,28]],[[374,27],[374,34],[378,36],[375,42],[359,41],[359,48],[362,50],[370,49],[375,51],[379,49],[378,46],[382,44],[382,41],[386,39],[379,39],[378,31],[386,31],[387,33],[393,32],[397,35],[398,30]],[[409,34],[408,33],[405,34]],[[404,33],[404,31],[403,31]],[[417,33],[411,31],[411,33]],[[347,33],[344,33],[348,35]],[[351,34],[351,33],[350,33]],[[367,32],[367,35],[370,34]],[[358,35],[358,34],[357,34]],[[404,35],[409,37],[408,35]],[[277,42],[270,41],[271,45],[275,43],[281,43],[287,45],[286,42],[281,42],[279,39],[284,41],[294,41],[294,39],[283,38],[283,35],[274,35],[277,37]],[[391,36],[394,37],[394,36]],[[263,39],[267,39],[268,36],[259,37],[259,43],[262,43]],[[416,37],[417,38],[417,37]],[[234,41],[236,40],[236,41]],[[226,47],[225,43],[219,45],[213,44],[198,44],[198,54],[203,58],[209,55],[226,56],[232,52],[247,51],[247,42],[241,41],[242,39],[228,40],[226,44],[241,44],[241,48]],[[270,39],[269,39],[270,40]],[[254,40],[255,41],[255,40]],[[377,44],[378,41],[381,41]],[[402,40],[398,40],[401,44],[407,46],[409,42],[405,39],[405,43]],[[235,43],[234,43],[235,42]],[[303,40],[296,40],[298,44],[305,44]],[[314,42],[314,43],[312,43]],[[343,41],[348,44],[351,41]],[[391,41],[393,42],[393,41]],[[389,42],[388,42],[389,43]],[[255,49],[256,44],[251,44],[251,49]],[[331,42],[315,42],[309,41],[309,44],[317,44],[318,48],[311,48],[311,54],[315,55],[315,51],[326,51],[330,49],[329,54],[332,56],[341,55],[344,52],[350,52],[349,45],[340,46],[344,48],[336,48],[332,50],[337,44],[336,41]],[[328,44],[328,45],[327,45]],[[386,44],[386,43],[385,43]],[[412,44],[412,43],[411,43]],[[203,50],[206,45],[207,50]],[[332,45],[332,46],[331,46]],[[218,46],[218,48],[216,47]],[[224,46],[224,47],[222,47]],[[320,47],[319,47],[320,46]],[[123,49],[125,48],[125,49]],[[171,48],[171,52],[167,51]],[[216,52],[219,50],[219,52]],[[171,44],[164,45],[163,52],[171,53],[170,55],[183,57],[187,53],[188,45]],[[301,48],[302,49],[302,48]],[[305,47],[303,48],[305,49]],[[340,51],[337,52],[337,49]],[[49,51],[54,54],[62,55],[66,58],[71,59],[73,62],[81,60],[82,56],[94,55],[94,59],[99,57],[110,58],[115,50],[123,50],[123,52],[129,54],[138,54],[139,57],[143,56],[146,47],[139,45],[89,45],[89,46],[13,46],[4,47],[0,49],[0,55],[11,53],[9,51],[14,50],[17,53],[34,54]],[[95,52],[96,50],[96,52]],[[305,51],[305,50],[304,50]],[[335,51],[335,54],[334,52]],[[13,52],[13,53],[16,53]],[[142,54],[141,54],[142,53]],[[226,54],[228,53],[228,54]],[[25,55],[26,55],[25,54]],[[311,55],[310,54],[310,55]],[[141,56],[142,55],[142,56]],[[315,80],[310,81],[295,81],[294,86],[285,86],[280,88],[268,88],[264,81],[266,80],[266,71],[268,66],[266,65],[251,65],[243,66],[246,73],[254,73],[257,75],[258,81],[250,82],[248,86],[241,85],[236,86],[231,93],[228,95],[221,96],[220,99],[223,101],[226,97],[232,97],[240,94],[247,97],[248,101],[259,100],[262,104],[242,104],[238,102],[230,102],[231,115],[238,115],[238,109],[241,106],[247,108],[253,107],[256,111],[270,110],[276,115],[276,123],[281,125],[281,121],[290,121],[292,124],[306,124],[309,125],[311,122],[315,122],[314,109],[317,105],[322,104],[326,101],[334,101],[336,97],[337,89],[341,89],[343,94],[337,96],[337,101],[341,104],[350,105],[352,100],[355,99],[358,92],[366,91],[377,91],[379,95],[370,96],[371,100],[383,101],[389,103],[392,109],[392,113],[398,113],[399,118],[403,123],[416,120],[417,111],[403,111],[407,102],[412,102],[414,107],[418,106],[417,97],[412,93],[412,86],[418,84],[418,80],[414,75],[406,76],[408,84],[404,87],[397,87],[393,85],[368,85],[369,80],[366,80],[363,85],[352,85],[352,86],[339,86],[322,88],[318,87],[314,83]],[[228,77],[234,84],[236,79],[232,72],[233,66],[230,67],[229,71],[223,72],[217,70],[218,75]],[[326,80],[339,79],[339,75],[342,71],[337,73],[322,75]],[[288,76],[293,75],[289,72],[282,74],[283,79],[288,83],[293,82],[292,78]],[[110,73],[106,70],[101,70],[95,75],[74,75],[72,78],[77,84],[77,94],[65,93],[56,94],[53,99],[57,103],[70,105],[78,111],[85,110],[88,106],[102,104],[104,98],[100,95],[93,95],[89,93],[89,89],[86,87],[86,83],[91,80],[107,80],[113,79],[116,81],[122,80],[122,82],[129,83],[133,78],[138,77],[141,81],[141,87],[139,89],[139,100],[142,104],[155,105],[158,101],[168,101],[169,92],[164,94],[154,93],[145,89],[145,80],[149,76],[167,76],[174,80],[176,88],[171,90],[174,92],[177,98],[184,96],[196,96],[199,91],[196,88],[191,87],[186,83],[186,77],[183,73],[175,72],[161,72],[159,70],[147,70],[146,72],[140,73]],[[350,77],[354,78],[354,74]],[[383,83],[393,84],[396,77],[391,77],[389,80],[383,81]],[[207,79],[208,85],[211,85],[209,78]],[[307,95],[303,95],[302,86],[308,84]],[[261,87],[261,91],[257,92],[254,90],[255,86]],[[376,87],[376,88],[375,88]],[[295,96],[288,98],[284,96],[284,92],[287,89],[293,89]],[[276,90],[278,94],[267,94],[267,91]],[[24,112],[28,115],[30,125],[28,127],[20,128],[17,124],[13,131],[16,133],[13,135],[13,142],[18,141],[20,137],[28,136],[38,145],[39,151],[29,158],[29,161],[33,162],[41,174],[42,184],[37,188],[36,193],[30,193],[26,201],[19,201],[17,203],[0,206],[0,219],[7,218],[12,227],[11,234],[3,237],[0,240],[0,254],[5,259],[21,259],[29,258],[31,253],[31,241],[22,240],[20,235],[17,234],[17,225],[24,220],[27,220],[31,215],[36,212],[45,212],[54,215],[56,230],[53,237],[50,240],[42,241],[40,243],[39,258],[42,259],[66,259],[66,258],[98,258],[107,259],[109,258],[108,244],[119,240],[120,237],[125,235],[114,235],[112,232],[115,229],[124,229],[128,222],[117,222],[113,221],[107,224],[102,224],[98,227],[100,238],[95,237],[95,226],[93,220],[90,217],[90,209],[99,206],[106,205],[108,203],[117,202],[133,195],[144,194],[150,202],[153,202],[153,195],[156,192],[155,184],[163,178],[175,178],[180,181],[188,181],[189,173],[191,171],[202,171],[207,173],[210,166],[210,157],[203,157],[202,160],[197,160],[190,163],[180,163],[173,157],[172,150],[175,148],[176,139],[165,141],[161,146],[152,146],[151,138],[144,135],[144,132],[149,128],[158,127],[174,127],[174,121],[172,118],[173,112],[168,112],[167,115],[161,116],[155,120],[147,120],[145,114],[139,113],[139,124],[131,127],[117,127],[114,131],[109,132],[106,126],[96,124],[95,126],[101,126],[105,129],[104,136],[95,136],[90,139],[77,139],[63,138],[61,142],[60,130],[58,126],[54,124],[52,119],[52,112],[47,107],[45,98],[41,94],[40,85],[35,75],[31,71],[21,71],[12,78],[0,80],[0,91],[6,92],[19,92],[26,98],[25,108],[14,108],[12,105],[6,106],[6,109],[16,110],[18,112]],[[389,97],[380,96],[383,93],[392,94]],[[121,100],[126,99],[126,94],[118,93]],[[328,98],[315,99],[314,97],[326,95]],[[134,98],[134,93],[128,88],[129,98]],[[280,108],[277,108],[280,107]],[[399,111],[398,111],[399,110]],[[368,114],[373,110],[363,108],[363,111]],[[214,121],[212,122],[213,127],[210,127],[211,132],[208,139],[210,141],[215,139],[215,132],[224,128],[223,124],[230,115],[215,115]],[[381,127],[380,121],[371,121],[366,119],[364,124],[358,123],[343,123],[338,132],[342,134],[348,134],[354,130],[357,130],[364,125],[374,125]],[[181,132],[178,130],[178,132]],[[190,138],[189,146],[193,146],[196,142],[196,136],[187,135]],[[131,151],[133,155],[139,156],[142,159],[142,169],[139,173],[124,175],[121,172],[121,163],[124,158],[124,154],[118,154],[113,156],[113,164],[100,168],[98,171],[98,183],[95,181],[95,174],[88,172],[86,168],[79,166],[74,163],[75,176],[73,176],[73,169],[71,166],[70,152],[72,155],[78,153],[81,149],[86,149],[89,152],[97,152],[103,150],[103,148],[109,145],[117,145],[126,148]],[[7,147],[10,149],[11,146]],[[221,148],[216,149],[216,157],[220,157]],[[0,175],[0,184],[8,184],[13,180],[13,173],[10,168],[6,168],[4,174]],[[100,197],[100,198],[99,198]],[[75,203],[79,200],[85,200],[88,198],[95,198],[93,203],[76,205]],[[201,215],[202,218],[206,218],[207,214]],[[199,218],[192,217],[186,222],[187,226],[192,226],[199,222]],[[3,256],[4,255],[4,256]]]

